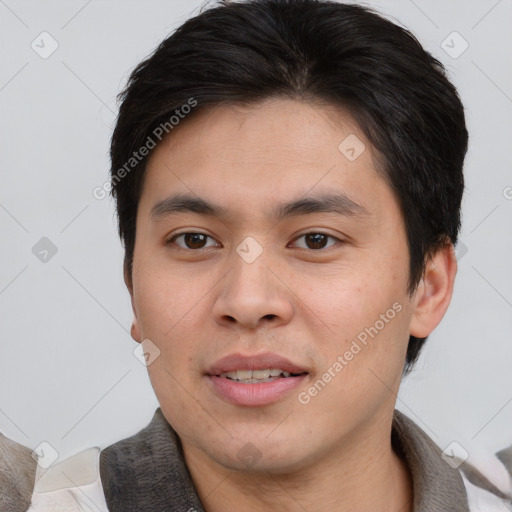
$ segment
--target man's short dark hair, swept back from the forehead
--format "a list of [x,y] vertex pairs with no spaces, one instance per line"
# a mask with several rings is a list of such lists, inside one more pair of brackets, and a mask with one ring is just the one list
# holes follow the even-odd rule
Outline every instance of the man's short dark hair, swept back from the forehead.
[[[191,101],[197,106],[187,118],[274,97],[326,102],[356,119],[403,214],[412,293],[428,259],[457,242],[464,109],[443,65],[410,32],[367,7],[322,0],[221,1],[186,21],[132,72],[118,97],[110,152],[128,275],[147,162],[134,152],[154,145],[158,127],[170,133],[171,118]],[[425,340],[410,337],[404,373]]]

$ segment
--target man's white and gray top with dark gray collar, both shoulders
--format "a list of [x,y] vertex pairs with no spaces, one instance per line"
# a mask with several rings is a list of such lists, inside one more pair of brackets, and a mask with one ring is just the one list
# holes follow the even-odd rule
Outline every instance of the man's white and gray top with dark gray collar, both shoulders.
[[[512,511],[510,489],[499,490],[488,475],[467,463],[454,462],[399,411],[394,412],[391,442],[412,477],[414,512]],[[85,478],[77,472],[84,464],[83,454],[50,468],[46,484],[39,480],[36,485],[29,511],[205,512],[179,437],[160,409],[136,435],[101,452],[93,450],[95,455],[89,450],[88,460],[94,470],[82,468]],[[512,472],[512,447],[501,456]],[[77,457],[82,457],[82,462]],[[64,483],[62,473],[68,477],[72,473],[74,485],[59,487],[57,482]]]

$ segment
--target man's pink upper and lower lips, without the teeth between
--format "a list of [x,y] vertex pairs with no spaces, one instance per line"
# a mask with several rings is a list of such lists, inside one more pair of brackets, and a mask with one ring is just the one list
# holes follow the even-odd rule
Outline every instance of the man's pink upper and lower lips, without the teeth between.
[[[265,368],[280,368],[289,373],[302,375],[281,377],[270,382],[251,384],[220,377],[222,372]],[[283,356],[267,352],[257,355],[230,354],[214,363],[206,376],[214,392],[222,399],[234,405],[261,407],[284,398],[300,386],[308,374],[309,372],[304,367],[292,363]]]

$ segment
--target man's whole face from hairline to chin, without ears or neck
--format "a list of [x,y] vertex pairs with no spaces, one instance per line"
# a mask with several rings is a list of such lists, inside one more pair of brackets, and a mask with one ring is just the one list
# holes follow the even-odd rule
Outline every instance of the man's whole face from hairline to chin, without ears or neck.
[[284,99],[200,113],[154,150],[132,332],[161,351],[149,376],[186,456],[282,472],[386,441],[414,304],[374,164],[348,114]]

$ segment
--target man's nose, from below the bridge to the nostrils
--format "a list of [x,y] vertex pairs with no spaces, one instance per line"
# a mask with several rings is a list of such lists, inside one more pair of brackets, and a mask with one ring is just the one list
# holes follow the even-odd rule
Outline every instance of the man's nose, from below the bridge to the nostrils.
[[284,284],[277,266],[268,266],[261,255],[247,263],[237,254],[222,281],[213,306],[215,321],[223,326],[238,324],[256,329],[264,324],[278,326],[293,316],[293,292]]

